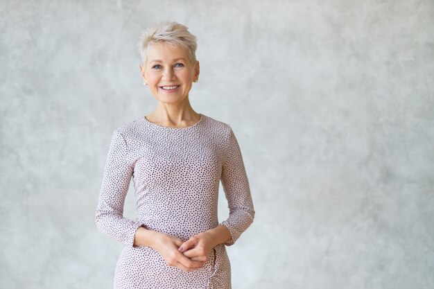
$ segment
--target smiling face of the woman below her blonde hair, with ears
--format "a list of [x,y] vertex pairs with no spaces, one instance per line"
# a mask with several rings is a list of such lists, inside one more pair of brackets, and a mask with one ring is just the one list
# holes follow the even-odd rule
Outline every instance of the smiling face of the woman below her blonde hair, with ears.
[[191,64],[182,46],[157,43],[149,46],[146,65],[140,71],[157,100],[181,103],[189,97],[193,80],[198,79],[199,62]]

